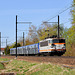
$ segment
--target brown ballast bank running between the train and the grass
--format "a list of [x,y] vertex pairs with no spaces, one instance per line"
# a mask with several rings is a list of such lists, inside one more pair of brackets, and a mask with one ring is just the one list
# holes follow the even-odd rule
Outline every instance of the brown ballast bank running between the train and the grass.
[[[2,58],[14,59],[15,56],[1,56]],[[69,65],[75,67],[75,57],[65,57],[65,56],[18,56],[18,60],[25,60],[29,62],[43,62],[43,63],[53,63],[60,65]]]

